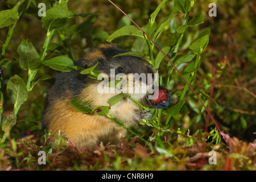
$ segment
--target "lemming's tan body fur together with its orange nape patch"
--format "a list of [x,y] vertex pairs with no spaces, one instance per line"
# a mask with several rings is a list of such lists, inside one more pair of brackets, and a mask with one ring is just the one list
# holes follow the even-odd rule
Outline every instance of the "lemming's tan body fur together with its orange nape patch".
[[[114,63],[111,61],[113,56],[110,56],[110,58],[106,57],[102,53],[106,49],[113,49],[115,51],[116,48],[113,44],[102,44],[98,49],[88,53],[84,57],[85,60],[81,62],[81,65],[92,67],[97,60],[104,59],[105,64],[110,64],[116,68],[120,64],[119,61],[116,60]],[[138,64],[142,63],[143,61]],[[127,62],[127,64],[129,63]],[[105,72],[103,68],[101,70],[101,67],[98,67],[98,69],[101,72]],[[59,78],[57,77],[57,79]],[[74,82],[72,81],[70,81],[71,85]],[[98,93],[97,86],[99,82],[88,77],[85,78],[86,86],[79,90],[79,94],[76,96],[71,89],[65,88],[63,84],[53,86],[49,90],[49,104],[46,108],[43,122],[53,135],[57,135],[60,130],[66,137],[71,138],[77,146],[94,147],[99,142],[104,142],[104,144],[109,142],[117,144],[120,142],[120,137],[126,135],[126,130],[123,127],[118,126],[112,119],[97,115],[96,113],[80,113],[80,111],[71,105],[71,100],[74,97],[78,97],[81,101],[89,103],[95,109],[100,106],[109,106],[107,101],[117,93]],[[69,86],[69,83],[67,86]],[[63,96],[55,95],[57,89],[64,90]],[[128,98],[124,98],[114,106],[111,106],[109,112],[110,115],[123,122],[126,126],[131,126],[139,122],[142,119],[142,113],[143,110],[141,107],[138,107],[137,104]]]

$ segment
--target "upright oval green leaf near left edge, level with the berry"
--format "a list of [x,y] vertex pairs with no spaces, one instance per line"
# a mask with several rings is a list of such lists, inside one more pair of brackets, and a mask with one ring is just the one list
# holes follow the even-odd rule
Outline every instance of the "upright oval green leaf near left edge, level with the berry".
[[14,107],[22,105],[28,98],[26,85],[18,75],[14,75],[10,78],[7,82],[6,90],[11,97],[11,102],[13,102]]

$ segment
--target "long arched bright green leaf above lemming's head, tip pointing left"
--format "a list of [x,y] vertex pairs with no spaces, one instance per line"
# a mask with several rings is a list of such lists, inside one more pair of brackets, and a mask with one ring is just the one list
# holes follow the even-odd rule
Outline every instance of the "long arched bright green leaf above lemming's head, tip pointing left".
[[144,35],[141,30],[139,30],[137,27],[133,25],[128,25],[115,31],[112,35],[108,37],[108,39],[106,39],[106,41],[112,42],[112,40],[125,35],[133,35],[133,36],[139,36],[141,38],[144,38]]

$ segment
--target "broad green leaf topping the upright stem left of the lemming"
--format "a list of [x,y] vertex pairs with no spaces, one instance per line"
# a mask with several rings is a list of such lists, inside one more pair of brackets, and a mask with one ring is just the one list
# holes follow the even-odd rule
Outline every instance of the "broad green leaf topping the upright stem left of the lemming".
[[46,16],[42,17],[42,27],[46,30],[65,26],[68,20],[67,2],[61,2],[46,11]]

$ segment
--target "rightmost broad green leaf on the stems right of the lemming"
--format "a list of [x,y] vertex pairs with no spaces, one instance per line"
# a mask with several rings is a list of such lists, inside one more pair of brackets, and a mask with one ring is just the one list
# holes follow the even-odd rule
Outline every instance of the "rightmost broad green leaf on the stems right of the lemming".
[[204,49],[207,47],[209,42],[210,30],[207,29],[204,32],[201,32],[199,36],[197,36],[196,40],[189,47],[193,53],[201,54]]

